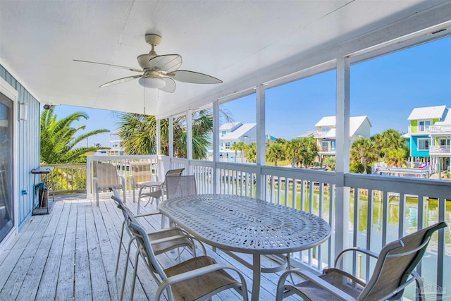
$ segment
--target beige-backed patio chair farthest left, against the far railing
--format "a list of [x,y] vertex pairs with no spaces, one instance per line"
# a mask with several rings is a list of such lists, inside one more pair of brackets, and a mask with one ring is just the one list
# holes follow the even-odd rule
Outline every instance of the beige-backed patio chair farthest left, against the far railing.
[[118,175],[116,166],[111,163],[94,163],[93,180],[97,206],[99,206],[99,191],[101,190],[122,189],[125,202],[125,178]]

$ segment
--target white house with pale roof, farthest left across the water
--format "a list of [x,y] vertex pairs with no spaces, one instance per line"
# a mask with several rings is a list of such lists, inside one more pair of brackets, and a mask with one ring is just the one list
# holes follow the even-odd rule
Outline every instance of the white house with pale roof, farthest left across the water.
[[237,142],[245,142],[248,145],[250,142],[257,141],[257,123],[241,123],[239,121],[224,123],[219,128],[219,133],[219,158],[222,161],[241,162],[241,151],[237,150],[237,158],[235,158],[235,150],[230,147]]

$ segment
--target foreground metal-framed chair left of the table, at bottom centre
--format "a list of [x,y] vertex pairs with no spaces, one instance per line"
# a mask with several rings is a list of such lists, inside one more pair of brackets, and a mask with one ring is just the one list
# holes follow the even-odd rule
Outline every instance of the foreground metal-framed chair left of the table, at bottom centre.
[[[154,300],[159,301],[163,293],[169,301],[172,300],[206,300],[223,290],[234,288],[242,299],[247,301],[247,286],[244,276],[230,264],[218,264],[208,256],[199,256],[166,269],[159,264],[154,254],[154,248],[147,238],[147,233],[138,223],[128,220],[130,232],[135,236],[138,250],[135,255],[135,270],[133,272],[130,299],[135,293],[138,260],[149,270],[158,284]],[[234,271],[240,282],[230,276],[227,271]]]

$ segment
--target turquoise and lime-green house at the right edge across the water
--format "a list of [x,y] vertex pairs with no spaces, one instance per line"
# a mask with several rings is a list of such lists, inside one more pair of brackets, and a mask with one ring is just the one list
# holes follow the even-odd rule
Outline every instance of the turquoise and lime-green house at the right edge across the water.
[[445,105],[414,108],[407,120],[410,125],[404,137],[413,166],[427,162],[432,172],[450,173],[450,109]]

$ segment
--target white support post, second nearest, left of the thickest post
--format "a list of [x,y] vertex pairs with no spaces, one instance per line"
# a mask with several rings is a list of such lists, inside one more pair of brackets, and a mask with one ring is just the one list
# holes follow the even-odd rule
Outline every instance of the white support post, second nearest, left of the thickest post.
[[265,165],[266,145],[265,145],[265,87],[264,85],[257,86],[257,185],[256,197],[257,199],[264,199],[265,197],[265,179],[261,175],[261,166]]

